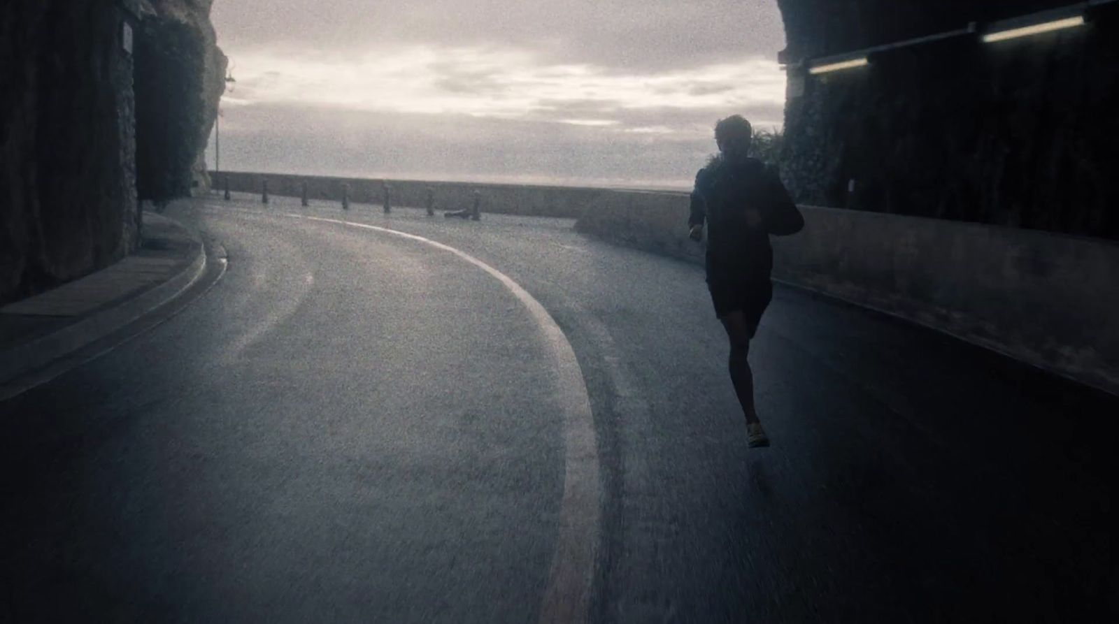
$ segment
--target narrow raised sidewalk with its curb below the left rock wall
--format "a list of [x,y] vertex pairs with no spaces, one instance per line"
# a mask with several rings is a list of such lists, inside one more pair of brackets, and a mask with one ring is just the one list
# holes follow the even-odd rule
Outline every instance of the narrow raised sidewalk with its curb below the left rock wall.
[[0,308],[0,399],[50,366],[170,302],[206,268],[201,240],[145,212],[140,248],[96,273]]

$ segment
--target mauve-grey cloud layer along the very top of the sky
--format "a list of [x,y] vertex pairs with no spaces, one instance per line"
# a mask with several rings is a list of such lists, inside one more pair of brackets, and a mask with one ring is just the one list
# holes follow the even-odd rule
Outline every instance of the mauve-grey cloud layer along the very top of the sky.
[[775,0],[226,0],[214,19],[234,57],[263,47],[361,54],[498,42],[549,64],[645,72],[773,59],[784,47]]

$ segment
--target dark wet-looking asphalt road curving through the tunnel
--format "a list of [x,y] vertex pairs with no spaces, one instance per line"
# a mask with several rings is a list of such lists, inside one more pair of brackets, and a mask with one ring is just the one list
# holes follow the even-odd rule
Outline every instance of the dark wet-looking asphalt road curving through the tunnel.
[[0,620],[537,622],[580,575],[593,622],[1119,618],[1113,398],[778,287],[747,450],[698,266],[564,220],[169,216],[225,276],[0,404]]

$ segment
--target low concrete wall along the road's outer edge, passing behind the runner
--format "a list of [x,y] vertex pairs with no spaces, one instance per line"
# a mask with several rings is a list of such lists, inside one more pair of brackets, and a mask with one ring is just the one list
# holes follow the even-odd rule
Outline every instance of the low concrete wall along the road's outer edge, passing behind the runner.
[[[384,180],[222,173],[253,192],[375,204]],[[565,187],[392,181],[399,206],[577,218],[579,231],[703,263],[688,197]],[[774,237],[774,277],[948,332],[1119,394],[1119,244],[1036,230],[801,207],[805,230]],[[919,357],[919,354],[916,354]]]

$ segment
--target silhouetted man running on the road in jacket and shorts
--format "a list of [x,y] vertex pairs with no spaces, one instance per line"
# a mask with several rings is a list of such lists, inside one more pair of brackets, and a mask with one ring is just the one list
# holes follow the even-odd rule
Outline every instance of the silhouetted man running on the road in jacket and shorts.
[[715,315],[731,342],[731,381],[746,416],[746,443],[769,446],[754,408],[754,376],[746,357],[750,340],[773,297],[770,235],[800,231],[805,219],[789,191],[761,161],[750,158],[753,129],[742,115],[715,124],[720,154],[696,174],[689,236],[707,228],[707,289]]

